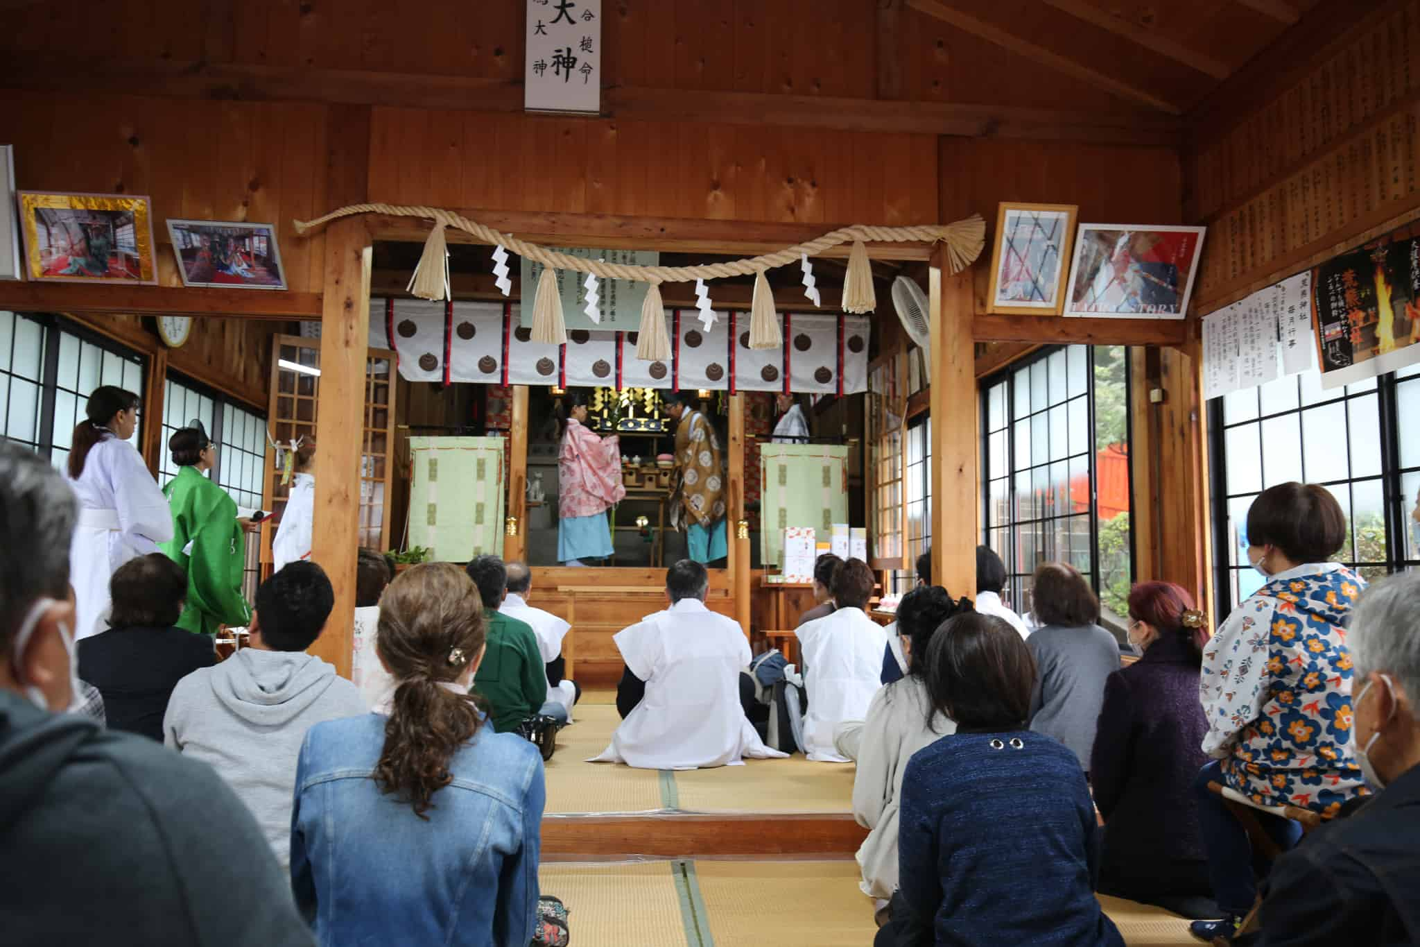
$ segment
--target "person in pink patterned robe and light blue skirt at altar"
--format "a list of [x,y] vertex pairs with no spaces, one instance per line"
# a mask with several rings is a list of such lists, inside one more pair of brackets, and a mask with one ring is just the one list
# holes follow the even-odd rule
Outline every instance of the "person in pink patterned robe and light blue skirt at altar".
[[567,430],[557,454],[557,561],[584,565],[615,551],[606,511],[626,497],[621,477],[621,442],[598,437],[586,426],[586,396],[568,393]]

